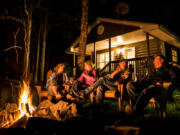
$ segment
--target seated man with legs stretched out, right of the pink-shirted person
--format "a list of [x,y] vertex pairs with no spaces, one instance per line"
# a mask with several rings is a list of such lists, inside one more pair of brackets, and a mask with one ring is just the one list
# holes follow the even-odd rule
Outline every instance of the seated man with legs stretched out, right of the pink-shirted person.
[[128,69],[127,61],[121,60],[117,69],[109,76],[100,77],[94,84],[85,90],[79,91],[78,94],[82,97],[87,97],[91,92],[96,90],[95,104],[101,106],[103,102],[104,90],[117,90],[118,84],[127,84],[131,80],[131,72]]

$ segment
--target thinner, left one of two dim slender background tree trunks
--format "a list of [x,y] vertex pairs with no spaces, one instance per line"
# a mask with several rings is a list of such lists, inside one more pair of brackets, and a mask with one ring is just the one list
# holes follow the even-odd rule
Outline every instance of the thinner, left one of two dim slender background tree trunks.
[[41,45],[41,32],[42,32],[42,19],[40,22],[39,32],[38,32],[38,43],[37,43],[37,53],[36,53],[36,68],[34,75],[34,82],[38,82],[38,70],[39,70],[39,54],[40,54],[40,45]]

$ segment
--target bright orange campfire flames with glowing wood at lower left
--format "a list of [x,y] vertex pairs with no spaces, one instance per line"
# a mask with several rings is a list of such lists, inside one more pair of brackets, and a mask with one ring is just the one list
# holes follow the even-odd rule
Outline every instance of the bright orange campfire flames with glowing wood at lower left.
[[29,83],[23,81],[20,87],[18,106],[16,104],[9,104],[9,106],[6,106],[6,111],[6,116],[1,118],[2,122],[0,122],[0,128],[8,128],[22,117],[29,118],[33,115],[35,108],[32,106]]

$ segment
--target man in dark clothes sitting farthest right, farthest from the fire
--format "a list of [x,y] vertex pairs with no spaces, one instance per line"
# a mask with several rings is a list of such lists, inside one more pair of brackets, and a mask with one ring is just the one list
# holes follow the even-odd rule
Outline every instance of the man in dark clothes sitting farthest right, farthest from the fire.
[[[141,81],[128,82],[126,85],[131,99],[131,106],[127,106],[127,108],[129,107],[127,113],[140,114],[152,97],[166,104],[167,93],[163,88],[163,83],[173,83],[176,73],[162,55],[154,58],[153,65],[154,70]],[[166,109],[165,105],[162,107],[163,110]]]

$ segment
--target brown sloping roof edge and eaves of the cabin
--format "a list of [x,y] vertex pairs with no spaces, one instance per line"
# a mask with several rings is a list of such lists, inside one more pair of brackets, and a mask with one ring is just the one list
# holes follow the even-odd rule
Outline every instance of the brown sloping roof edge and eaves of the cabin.
[[[153,37],[156,37],[162,41],[174,45],[175,47],[180,48],[180,38],[178,36],[176,36],[174,33],[169,31],[164,26],[154,23],[127,21],[127,20],[119,20],[119,19],[111,19],[111,18],[97,18],[94,23],[88,26],[88,36],[93,31],[93,29],[95,29],[100,23],[132,26],[139,29],[139,30],[134,29],[135,32],[141,30],[143,33],[148,33]],[[71,48],[77,47],[79,45],[79,40],[80,40],[80,36],[70,45],[70,47],[66,50],[66,53],[69,54],[72,53]]]

